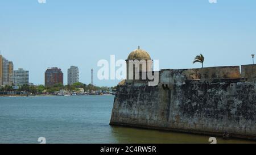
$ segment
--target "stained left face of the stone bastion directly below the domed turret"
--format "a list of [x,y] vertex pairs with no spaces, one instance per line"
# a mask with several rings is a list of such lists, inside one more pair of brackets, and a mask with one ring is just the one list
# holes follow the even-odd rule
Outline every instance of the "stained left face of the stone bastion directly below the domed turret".
[[122,85],[117,87],[110,124],[159,127],[167,119],[168,93],[158,86]]

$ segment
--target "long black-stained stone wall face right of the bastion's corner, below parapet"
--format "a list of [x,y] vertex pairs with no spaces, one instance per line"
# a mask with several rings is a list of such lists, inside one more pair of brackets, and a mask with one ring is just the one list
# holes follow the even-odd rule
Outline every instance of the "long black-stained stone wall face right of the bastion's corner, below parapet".
[[256,84],[240,79],[174,85],[171,128],[256,140]]

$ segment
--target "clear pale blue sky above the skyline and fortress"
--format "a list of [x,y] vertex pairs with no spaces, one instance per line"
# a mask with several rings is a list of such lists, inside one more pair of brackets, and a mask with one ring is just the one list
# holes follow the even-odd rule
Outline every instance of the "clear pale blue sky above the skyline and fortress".
[[[44,71],[79,66],[80,81],[110,55],[126,59],[138,45],[158,59],[160,69],[251,63],[256,53],[256,1],[218,0],[6,0],[0,1],[0,50],[14,68],[30,71],[30,82],[44,83]],[[113,86],[118,81],[100,81]]]

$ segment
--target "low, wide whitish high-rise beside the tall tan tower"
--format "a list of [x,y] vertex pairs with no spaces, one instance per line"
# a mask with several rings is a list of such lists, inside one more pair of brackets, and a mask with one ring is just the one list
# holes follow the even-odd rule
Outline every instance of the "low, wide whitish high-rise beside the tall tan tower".
[[28,70],[23,70],[22,68],[14,70],[13,83],[15,86],[28,85]]

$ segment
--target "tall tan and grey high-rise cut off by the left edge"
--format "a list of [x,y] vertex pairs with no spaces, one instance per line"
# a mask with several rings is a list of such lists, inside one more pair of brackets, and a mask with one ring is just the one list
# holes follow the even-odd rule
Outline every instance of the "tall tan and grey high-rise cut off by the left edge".
[[0,85],[12,85],[13,83],[13,62],[8,61],[0,55]]

